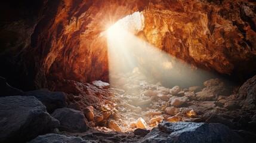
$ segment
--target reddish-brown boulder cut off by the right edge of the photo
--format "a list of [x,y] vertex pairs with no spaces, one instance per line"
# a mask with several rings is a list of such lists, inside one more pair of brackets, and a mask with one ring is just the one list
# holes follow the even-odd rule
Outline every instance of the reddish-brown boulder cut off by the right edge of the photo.
[[256,109],[256,75],[251,79],[248,79],[239,88],[237,97],[240,102],[240,106],[244,110],[255,110]]

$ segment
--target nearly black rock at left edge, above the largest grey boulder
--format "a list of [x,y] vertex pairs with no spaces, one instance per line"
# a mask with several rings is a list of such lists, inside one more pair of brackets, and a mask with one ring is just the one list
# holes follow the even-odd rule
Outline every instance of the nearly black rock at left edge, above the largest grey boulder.
[[13,95],[22,95],[23,91],[17,88],[13,88],[6,82],[4,77],[0,76],[0,97],[7,97]]

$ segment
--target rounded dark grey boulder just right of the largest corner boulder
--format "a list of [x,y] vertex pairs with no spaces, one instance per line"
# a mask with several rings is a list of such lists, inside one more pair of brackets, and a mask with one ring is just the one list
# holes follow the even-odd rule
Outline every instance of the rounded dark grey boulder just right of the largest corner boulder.
[[87,130],[87,122],[82,111],[72,108],[58,108],[51,116],[60,121],[58,127],[60,131],[85,132]]

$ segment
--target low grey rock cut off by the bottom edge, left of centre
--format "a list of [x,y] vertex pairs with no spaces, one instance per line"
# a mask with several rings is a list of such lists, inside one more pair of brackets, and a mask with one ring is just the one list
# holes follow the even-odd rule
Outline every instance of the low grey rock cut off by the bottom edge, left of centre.
[[48,133],[45,135],[39,135],[32,141],[28,143],[52,143],[52,142],[69,142],[69,143],[90,143],[90,141],[85,141],[80,137],[75,136],[66,136],[66,135],[58,135],[55,133]]

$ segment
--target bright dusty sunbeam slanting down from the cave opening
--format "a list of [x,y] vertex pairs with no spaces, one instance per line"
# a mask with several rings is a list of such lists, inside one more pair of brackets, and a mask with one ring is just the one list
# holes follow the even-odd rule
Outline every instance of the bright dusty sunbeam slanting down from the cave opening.
[[[143,29],[144,16],[135,12],[117,21],[107,30],[110,85],[114,83],[111,75],[127,73],[135,67],[144,71],[143,76],[146,76],[148,81],[157,79],[155,82],[165,82],[166,85],[187,82],[192,76],[196,76],[190,73],[196,70],[195,67],[180,62],[177,58],[135,36]],[[203,74],[200,76],[203,77]]]

